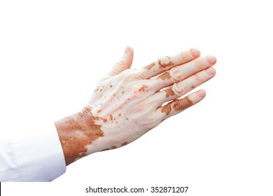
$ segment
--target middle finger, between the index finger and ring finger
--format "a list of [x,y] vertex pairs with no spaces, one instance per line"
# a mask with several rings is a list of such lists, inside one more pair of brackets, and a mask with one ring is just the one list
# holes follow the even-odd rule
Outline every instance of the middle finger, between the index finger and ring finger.
[[162,87],[167,87],[173,83],[184,80],[203,69],[213,66],[214,64],[216,64],[216,57],[212,55],[199,57],[186,64],[175,66],[160,76],[153,78],[151,80],[151,87],[155,87],[155,90],[160,90]]

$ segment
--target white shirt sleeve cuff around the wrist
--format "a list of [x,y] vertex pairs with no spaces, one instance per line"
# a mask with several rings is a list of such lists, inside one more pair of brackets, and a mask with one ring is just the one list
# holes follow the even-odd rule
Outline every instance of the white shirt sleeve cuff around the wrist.
[[0,181],[52,181],[65,171],[54,123],[39,132],[0,136]]

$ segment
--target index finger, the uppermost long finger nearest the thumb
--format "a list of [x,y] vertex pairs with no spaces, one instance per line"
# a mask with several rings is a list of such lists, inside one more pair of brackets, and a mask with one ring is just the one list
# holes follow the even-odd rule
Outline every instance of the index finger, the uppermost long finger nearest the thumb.
[[139,76],[144,79],[152,78],[174,66],[190,62],[197,57],[200,57],[200,50],[196,48],[179,52],[173,56],[160,57],[157,61],[140,69]]

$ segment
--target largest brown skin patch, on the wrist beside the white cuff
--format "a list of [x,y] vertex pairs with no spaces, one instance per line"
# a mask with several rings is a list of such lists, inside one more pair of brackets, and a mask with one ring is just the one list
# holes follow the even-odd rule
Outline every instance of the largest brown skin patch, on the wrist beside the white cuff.
[[57,133],[62,144],[66,165],[83,157],[87,152],[87,145],[99,137],[104,137],[102,125],[97,125],[91,109],[85,107],[79,113],[55,122]]

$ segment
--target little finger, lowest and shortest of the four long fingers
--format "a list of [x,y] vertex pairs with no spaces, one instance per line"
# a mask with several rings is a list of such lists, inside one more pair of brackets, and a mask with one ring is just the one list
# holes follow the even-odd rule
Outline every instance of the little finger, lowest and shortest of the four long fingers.
[[198,90],[197,92],[193,92],[183,99],[174,99],[174,101],[169,102],[165,106],[160,106],[155,111],[155,115],[158,118],[165,120],[176,115],[177,113],[181,113],[181,111],[188,109],[190,106],[197,104],[204,99],[205,96],[206,92],[204,90]]

